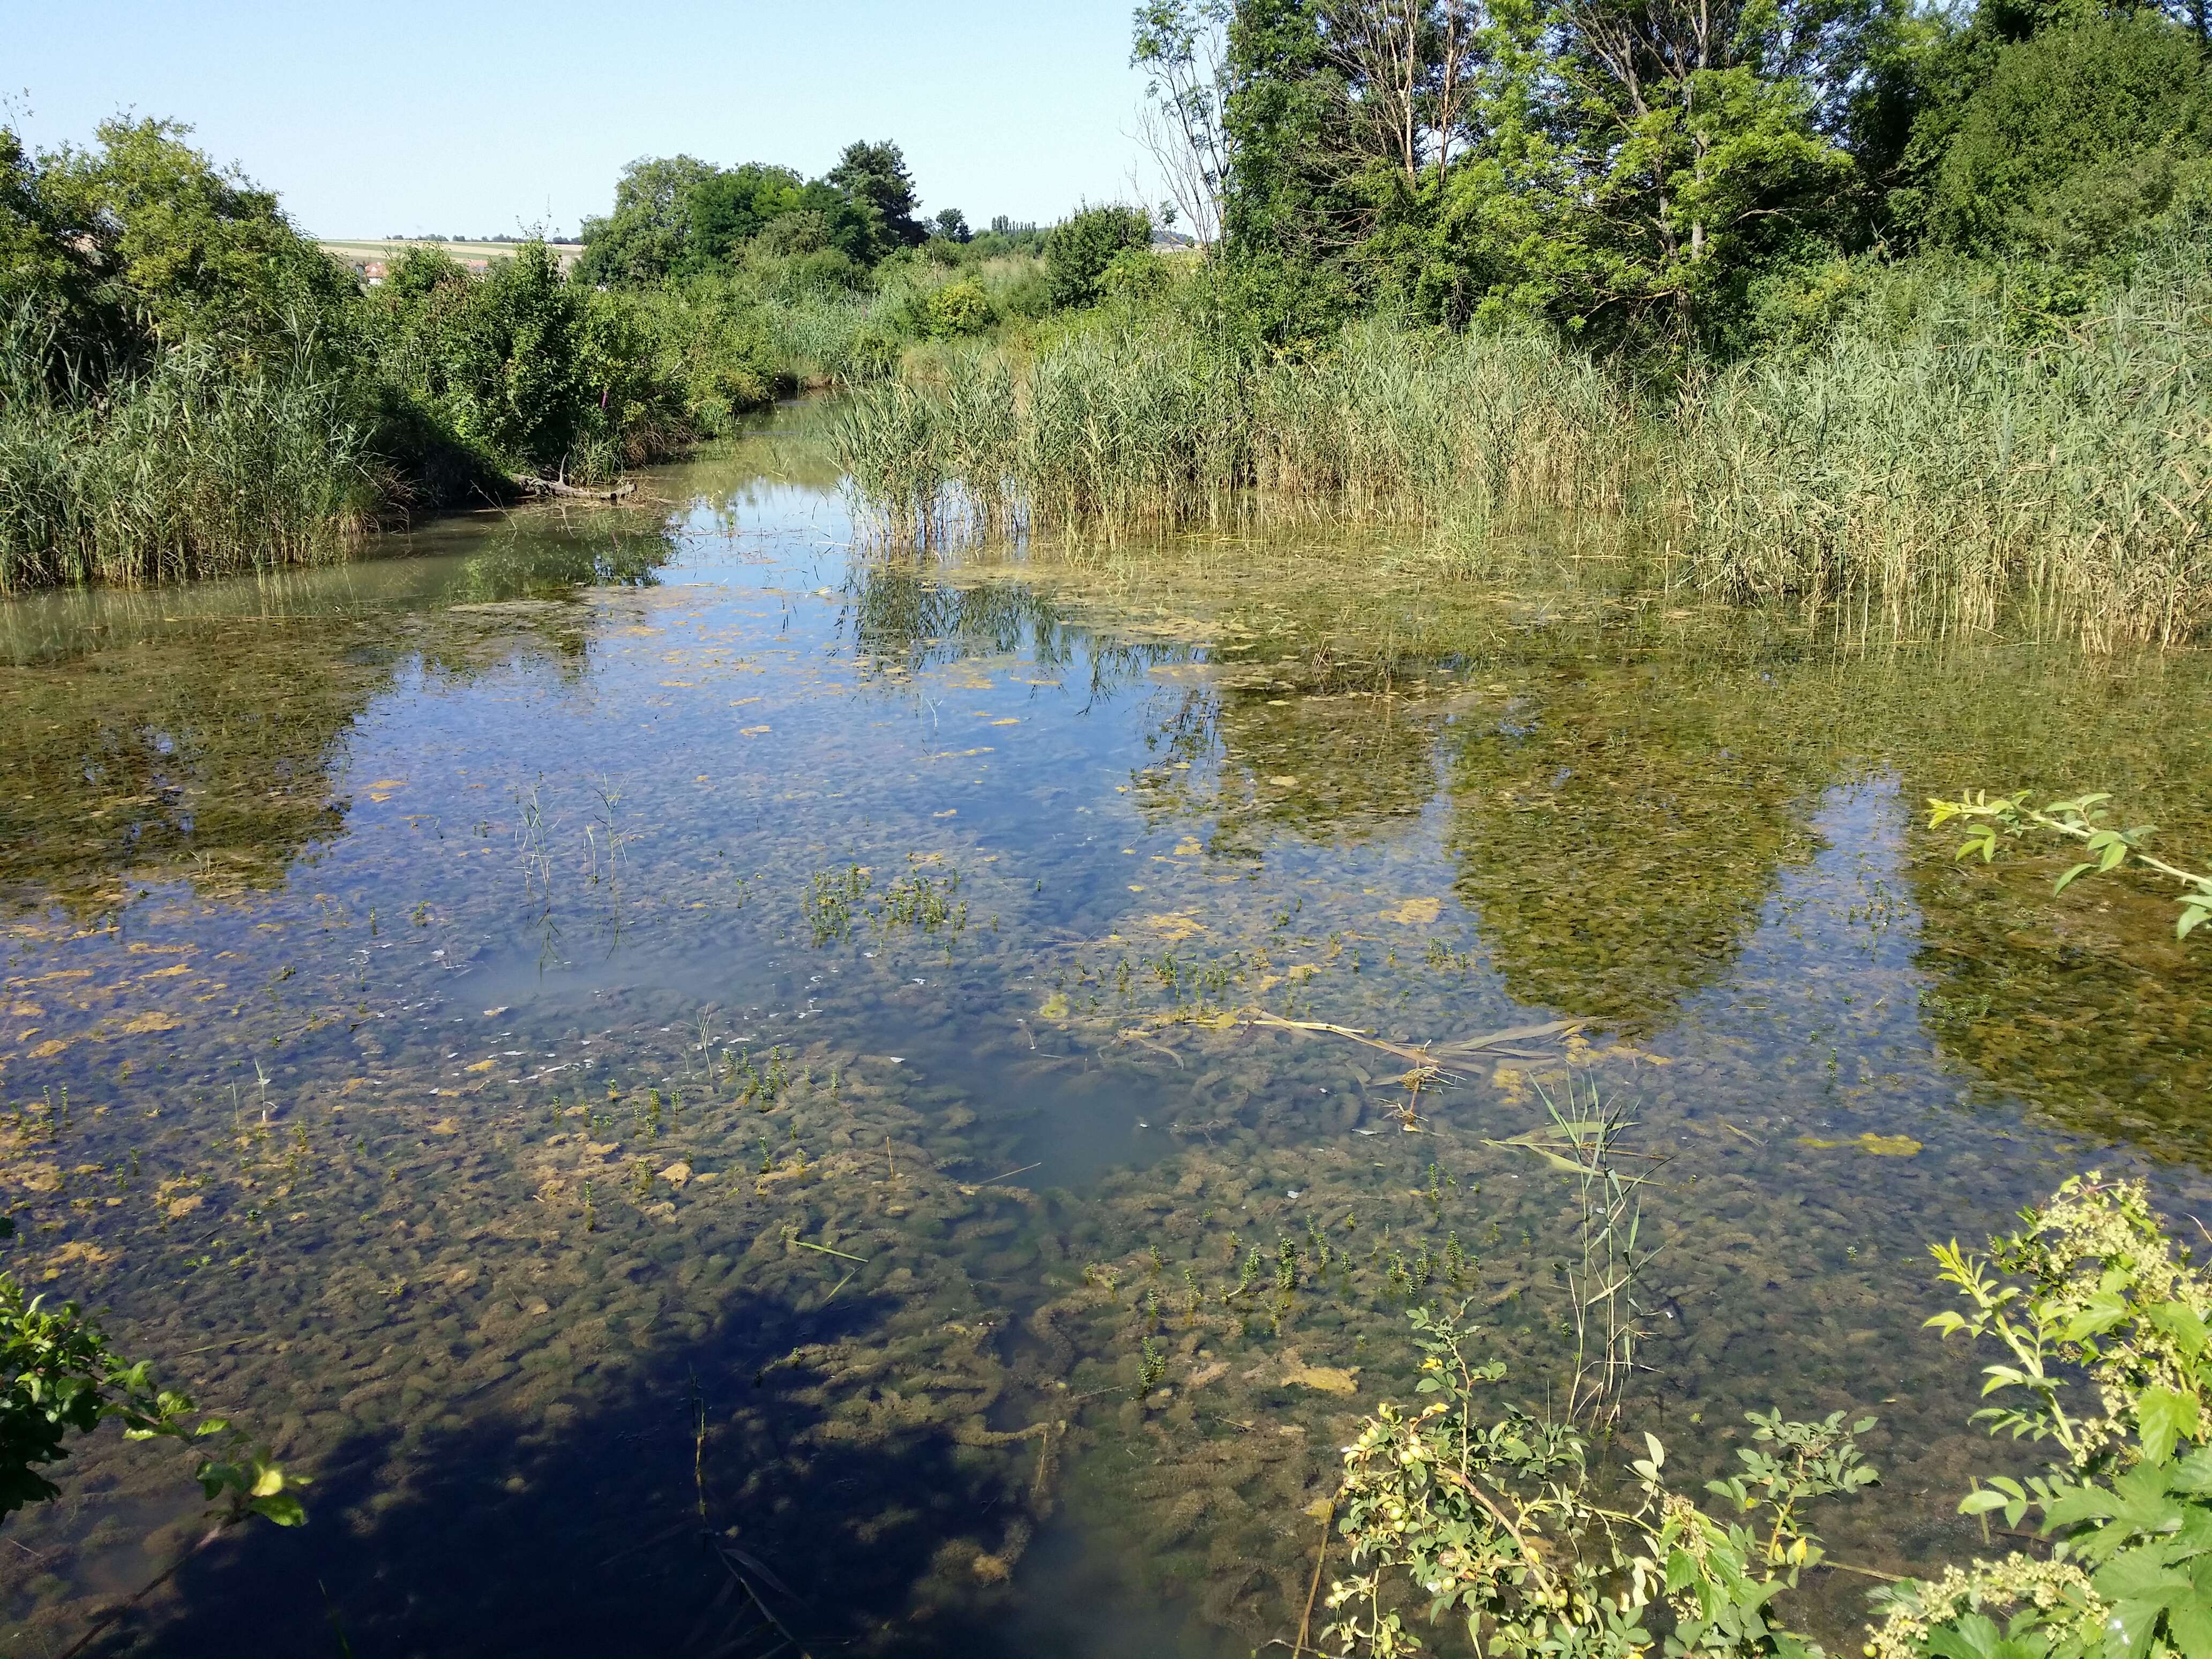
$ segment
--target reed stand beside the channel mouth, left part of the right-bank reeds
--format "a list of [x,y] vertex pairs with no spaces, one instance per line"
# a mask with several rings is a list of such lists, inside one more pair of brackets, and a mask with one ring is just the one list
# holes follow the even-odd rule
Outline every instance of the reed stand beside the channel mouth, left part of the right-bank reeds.
[[1099,327],[860,385],[832,442],[887,540],[1029,524],[1108,540],[1225,518],[1621,511],[1641,436],[1601,369],[1524,338],[1369,325],[1250,369],[1179,327]]

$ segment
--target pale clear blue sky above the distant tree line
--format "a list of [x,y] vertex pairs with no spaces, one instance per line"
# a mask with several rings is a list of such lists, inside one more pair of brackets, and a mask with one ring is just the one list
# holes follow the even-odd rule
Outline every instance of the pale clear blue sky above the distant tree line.
[[[0,0],[33,148],[133,111],[319,237],[573,232],[639,155],[825,170],[896,139],[922,206],[1130,195],[1130,0]],[[29,113],[24,113],[24,108]],[[1157,195],[1148,173],[1144,197]]]

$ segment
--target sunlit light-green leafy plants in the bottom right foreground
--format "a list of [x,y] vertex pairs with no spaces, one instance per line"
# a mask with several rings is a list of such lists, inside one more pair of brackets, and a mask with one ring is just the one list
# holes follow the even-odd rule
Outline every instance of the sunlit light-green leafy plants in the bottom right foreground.
[[[1940,1279],[1966,1312],[1929,1321],[1944,1336],[1997,1340],[1978,1413],[1993,1433],[2051,1442],[2044,1473],[1978,1482],[1960,1513],[2039,1515],[2046,1555],[1947,1568],[1936,1582],[1876,1593],[1869,1659],[2168,1659],[2212,1648],[2212,1276],[2177,1256],[2141,1181],[2066,1181],[1989,1256],[1947,1243]],[[1462,1310],[1464,1316],[1464,1310]],[[1593,1495],[1586,1444],[1568,1427],[1478,1391],[1504,1376],[1480,1360],[1480,1332],[1433,1310],[1411,1314],[1438,1396],[1418,1416],[1383,1405],[1345,1449],[1332,1513],[1356,1571],[1338,1579],[1325,1639],[1340,1655],[1402,1655],[1422,1644],[1396,1597],[1402,1573],[1429,1619],[1464,1619],[1500,1655],[1818,1652],[1792,1635],[1778,1597],[1825,1551],[1803,1506],[1876,1482],[1845,1425],[1750,1413],[1741,1469],[1705,1482],[1719,1515],[1666,1484],[1666,1451],[1635,1458],[1641,1502]],[[2095,1400],[2066,1407],[2086,1378]],[[1663,1635],[1646,1624],[1663,1604]],[[2002,1624],[2000,1624],[2002,1617]]]

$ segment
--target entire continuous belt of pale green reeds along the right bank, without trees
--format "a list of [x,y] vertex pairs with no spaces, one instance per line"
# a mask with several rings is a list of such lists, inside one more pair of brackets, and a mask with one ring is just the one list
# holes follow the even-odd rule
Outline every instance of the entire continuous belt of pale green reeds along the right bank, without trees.
[[2002,281],[1911,283],[1905,321],[1876,294],[1818,349],[1705,374],[1670,409],[1542,336],[1365,323],[1312,361],[1237,365],[1164,307],[1022,367],[984,349],[860,385],[834,442],[894,542],[1575,515],[1670,549],[1670,582],[1896,635],[2199,637],[2212,261],[2148,261],[2026,338]]

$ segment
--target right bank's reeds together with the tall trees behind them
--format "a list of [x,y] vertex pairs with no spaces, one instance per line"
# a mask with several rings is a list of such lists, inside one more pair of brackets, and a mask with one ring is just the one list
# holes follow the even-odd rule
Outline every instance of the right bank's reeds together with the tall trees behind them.
[[1900,633],[2212,622],[2194,13],[1159,0],[1135,60],[1203,259],[872,387],[889,533],[1626,509]]

